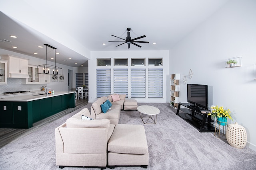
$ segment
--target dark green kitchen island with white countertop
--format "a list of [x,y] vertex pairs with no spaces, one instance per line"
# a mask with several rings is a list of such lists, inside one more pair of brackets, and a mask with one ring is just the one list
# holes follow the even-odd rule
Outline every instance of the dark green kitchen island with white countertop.
[[0,128],[30,128],[33,123],[70,107],[75,92],[28,93],[0,96]]

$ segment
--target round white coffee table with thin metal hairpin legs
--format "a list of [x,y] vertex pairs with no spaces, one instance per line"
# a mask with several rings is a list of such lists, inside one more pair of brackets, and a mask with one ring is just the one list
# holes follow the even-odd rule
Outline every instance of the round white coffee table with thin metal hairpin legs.
[[[142,105],[142,106],[138,106],[137,110],[139,111],[140,118],[142,119],[144,124],[146,124],[149,119],[152,119],[154,124],[156,124],[157,115],[160,113],[160,110],[158,108],[156,108],[154,106]],[[144,120],[143,120],[143,114],[149,116],[148,120],[146,122],[144,122]],[[156,115],[156,117],[155,117],[155,115]]]

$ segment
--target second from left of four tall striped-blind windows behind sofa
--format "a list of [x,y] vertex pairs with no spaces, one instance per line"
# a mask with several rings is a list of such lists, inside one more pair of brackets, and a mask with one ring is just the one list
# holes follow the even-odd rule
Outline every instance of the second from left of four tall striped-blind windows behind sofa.
[[128,69],[114,69],[114,93],[128,96]]

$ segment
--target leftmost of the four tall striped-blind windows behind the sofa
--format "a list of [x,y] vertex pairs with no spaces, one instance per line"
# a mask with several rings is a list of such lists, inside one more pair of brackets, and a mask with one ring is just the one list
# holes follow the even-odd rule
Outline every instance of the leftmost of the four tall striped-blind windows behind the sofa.
[[108,96],[111,93],[111,70],[96,69],[97,75],[97,98]]

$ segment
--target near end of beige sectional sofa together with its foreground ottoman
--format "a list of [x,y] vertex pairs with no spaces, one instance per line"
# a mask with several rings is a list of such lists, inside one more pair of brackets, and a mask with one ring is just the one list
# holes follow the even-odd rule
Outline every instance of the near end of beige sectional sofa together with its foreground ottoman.
[[144,126],[113,125],[108,119],[83,120],[82,115],[90,117],[89,110],[82,109],[55,129],[56,165],[147,168],[149,154]]

